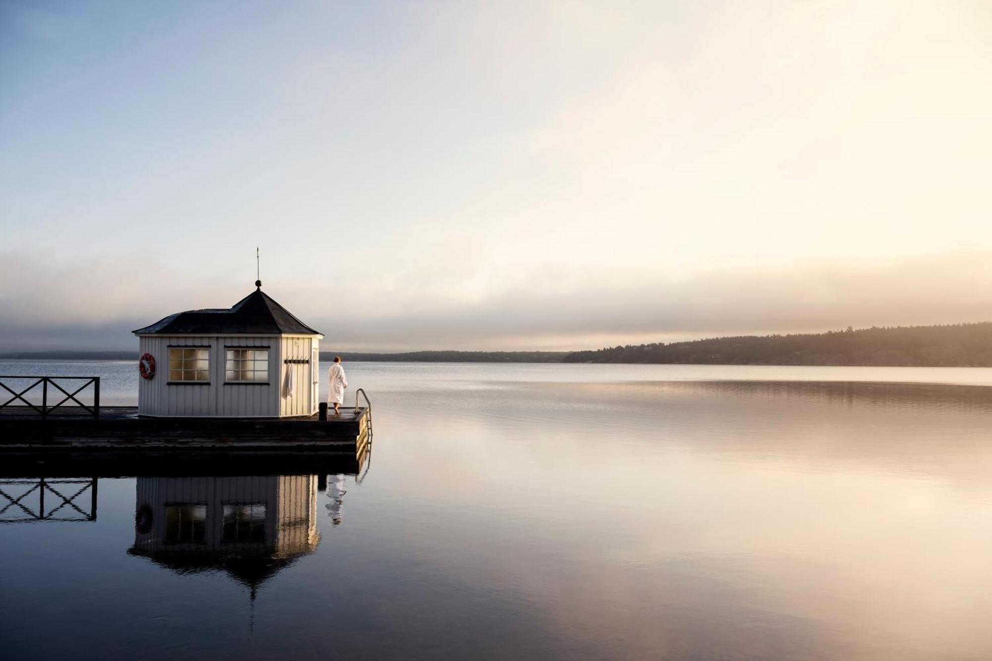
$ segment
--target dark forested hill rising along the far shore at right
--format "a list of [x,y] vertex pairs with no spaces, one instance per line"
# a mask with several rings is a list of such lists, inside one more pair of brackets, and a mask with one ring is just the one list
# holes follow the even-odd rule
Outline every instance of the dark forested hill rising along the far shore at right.
[[992,323],[741,335],[573,351],[563,362],[992,366]]

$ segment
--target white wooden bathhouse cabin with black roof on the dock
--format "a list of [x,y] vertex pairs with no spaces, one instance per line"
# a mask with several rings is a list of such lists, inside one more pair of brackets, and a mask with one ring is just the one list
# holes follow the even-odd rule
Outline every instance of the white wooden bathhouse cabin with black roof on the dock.
[[276,418],[317,410],[323,335],[256,290],[229,310],[170,315],[138,335],[138,414]]

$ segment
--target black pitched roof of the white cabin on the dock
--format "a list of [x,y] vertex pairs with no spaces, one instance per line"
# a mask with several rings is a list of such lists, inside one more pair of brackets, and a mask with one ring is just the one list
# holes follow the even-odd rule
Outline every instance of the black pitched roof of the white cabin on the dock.
[[322,334],[294,317],[261,289],[235,303],[230,310],[190,310],[132,332],[157,335]]

